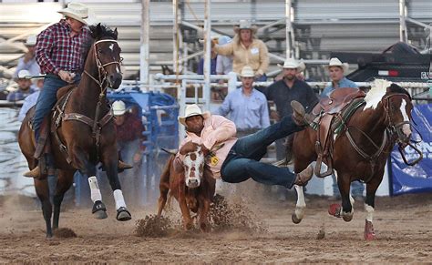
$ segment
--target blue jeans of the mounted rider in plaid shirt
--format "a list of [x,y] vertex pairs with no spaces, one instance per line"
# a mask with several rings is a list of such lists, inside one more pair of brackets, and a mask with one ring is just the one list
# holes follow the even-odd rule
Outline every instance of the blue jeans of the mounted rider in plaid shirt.
[[[78,83],[81,76],[77,75],[74,78],[74,82]],[[35,130],[36,142],[39,139],[40,126],[42,121],[49,114],[51,108],[54,107],[57,101],[57,90],[60,87],[66,87],[69,85],[67,82],[60,79],[58,76],[47,74],[44,81],[44,87],[40,91],[39,97],[37,97],[35,117],[33,117],[33,129]]]

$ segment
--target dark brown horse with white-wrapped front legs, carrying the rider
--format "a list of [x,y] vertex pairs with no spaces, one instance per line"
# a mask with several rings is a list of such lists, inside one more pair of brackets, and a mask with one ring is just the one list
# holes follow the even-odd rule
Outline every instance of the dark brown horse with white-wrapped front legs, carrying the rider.
[[[96,176],[96,165],[103,164],[109,184],[114,190],[117,219],[129,220],[118,180],[118,150],[113,116],[107,101],[107,87],[118,88],[121,83],[120,47],[117,43],[117,29],[110,30],[103,25],[90,26],[94,42],[87,54],[84,73],[77,87],[69,89],[65,97],[51,112],[50,126],[51,151],[54,156],[57,174],[57,188],[54,193],[53,228],[58,228],[60,205],[67,189],[73,183],[74,173],[79,170],[89,177],[91,199],[94,202],[93,214],[97,219],[107,218]],[[66,88],[66,87],[65,87]],[[70,88],[70,87],[69,87]],[[58,93],[61,93],[62,88]],[[57,93],[57,96],[58,96]],[[18,135],[19,146],[25,155],[28,168],[37,165],[34,156],[35,138],[29,127],[33,111],[29,111]],[[46,174],[35,178],[37,197],[42,202],[46,220],[46,237],[52,237],[52,205]]]

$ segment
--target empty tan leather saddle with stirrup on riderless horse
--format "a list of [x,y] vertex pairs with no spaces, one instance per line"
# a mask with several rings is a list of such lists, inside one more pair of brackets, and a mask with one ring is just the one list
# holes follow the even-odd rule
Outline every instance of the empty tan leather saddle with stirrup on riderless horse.
[[[351,117],[355,109],[364,103],[365,92],[353,87],[341,87],[335,89],[328,97],[321,98],[314,109],[314,115],[319,115],[316,122],[317,138],[315,151],[317,154],[314,173],[317,177],[324,178],[333,174],[333,148],[334,134],[336,137],[340,127]],[[327,171],[321,173],[322,163],[327,165]]]

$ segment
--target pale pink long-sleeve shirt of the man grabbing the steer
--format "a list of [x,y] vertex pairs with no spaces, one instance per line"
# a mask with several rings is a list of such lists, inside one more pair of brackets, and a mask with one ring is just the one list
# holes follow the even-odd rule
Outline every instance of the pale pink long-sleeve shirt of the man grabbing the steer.
[[[211,163],[211,159],[206,159],[206,165],[211,169],[213,178],[221,178],[223,161],[225,161],[228,152],[237,141],[235,134],[235,125],[231,120],[219,115],[211,115],[211,117],[204,119],[201,137],[187,131],[186,138],[181,141],[179,150],[189,141],[199,145],[203,144],[218,158],[218,162],[215,165]],[[184,156],[180,152],[177,152],[176,163],[182,165],[183,158]]]

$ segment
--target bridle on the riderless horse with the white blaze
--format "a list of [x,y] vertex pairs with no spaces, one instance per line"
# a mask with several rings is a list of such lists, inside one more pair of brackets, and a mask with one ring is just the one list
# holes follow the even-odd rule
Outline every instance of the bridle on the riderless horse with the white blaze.
[[[404,142],[402,139],[405,137],[405,135],[402,132],[402,129],[400,129],[400,127],[403,127],[404,125],[411,125],[411,123],[409,121],[401,121],[399,123],[394,124],[392,121],[392,116],[391,114],[391,108],[390,108],[390,97],[405,97],[406,101],[411,101],[411,98],[408,97],[408,95],[404,94],[404,93],[394,93],[394,94],[389,94],[386,97],[383,98],[384,100],[384,110],[386,113],[386,120],[388,120],[388,126],[386,127],[386,129],[388,130],[388,132],[390,133],[390,135],[396,135],[396,142],[398,144],[398,149],[399,152],[401,154],[401,157],[403,158],[404,162],[406,163],[406,165],[408,166],[414,166],[416,165],[422,158],[423,158],[423,153],[410,142],[410,139],[407,139],[407,142]],[[406,146],[409,146],[411,148],[413,148],[417,154],[419,155],[417,159],[415,159],[414,161],[408,162],[406,160],[406,157],[404,155],[404,148],[406,148]]]

